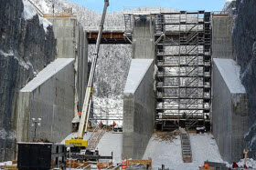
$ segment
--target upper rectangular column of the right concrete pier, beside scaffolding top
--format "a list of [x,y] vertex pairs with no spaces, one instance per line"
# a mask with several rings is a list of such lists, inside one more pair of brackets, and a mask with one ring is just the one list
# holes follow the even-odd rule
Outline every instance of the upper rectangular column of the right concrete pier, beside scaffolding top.
[[212,16],[212,57],[235,59],[232,47],[231,16]]

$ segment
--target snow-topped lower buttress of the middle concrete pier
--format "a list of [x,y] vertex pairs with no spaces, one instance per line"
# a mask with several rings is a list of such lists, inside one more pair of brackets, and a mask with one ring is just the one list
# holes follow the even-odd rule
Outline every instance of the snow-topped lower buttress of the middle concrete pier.
[[123,95],[123,157],[140,159],[154,131],[153,59],[133,59]]

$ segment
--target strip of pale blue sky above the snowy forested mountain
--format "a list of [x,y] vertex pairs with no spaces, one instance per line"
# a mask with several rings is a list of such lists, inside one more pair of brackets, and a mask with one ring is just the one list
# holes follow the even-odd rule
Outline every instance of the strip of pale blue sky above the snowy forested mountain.
[[[101,12],[104,0],[69,0]],[[161,6],[187,11],[220,11],[227,0],[110,0],[109,12],[123,10],[123,6]]]

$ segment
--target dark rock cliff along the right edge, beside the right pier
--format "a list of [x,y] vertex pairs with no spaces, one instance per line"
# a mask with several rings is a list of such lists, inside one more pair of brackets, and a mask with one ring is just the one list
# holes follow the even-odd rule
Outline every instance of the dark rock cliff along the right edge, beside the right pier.
[[245,135],[251,154],[256,157],[256,58],[252,45],[256,41],[256,1],[237,0],[237,20],[233,30],[236,60],[241,66],[240,79],[248,95],[251,129]]

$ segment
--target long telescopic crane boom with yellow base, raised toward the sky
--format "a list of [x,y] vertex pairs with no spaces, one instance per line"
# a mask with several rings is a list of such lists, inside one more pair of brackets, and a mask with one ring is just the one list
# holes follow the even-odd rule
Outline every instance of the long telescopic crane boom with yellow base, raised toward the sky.
[[88,80],[88,85],[86,88],[86,94],[84,98],[84,103],[82,107],[82,113],[80,116],[80,125],[79,125],[79,131],[78,135],[76,138],[66,140],[65,144],[67,145],[74,145],[75,147],[80,147],[81,149],[85,149],[88,145],[87,140],[83,140],[83,135],[84,133],[87,133],[87,125],[89,121],[89,115],[90,115],[90,110],[91,110],[91,99],[92,99],[92,81],[93,81],[93,76],[95,73],[95,68],[97,64],[97,59],[99,55],[99,49],[100,49],[100,44],[101,44],[101,35],[103,31],[103,25],[105,21],[105,16],[107,13],[107,8],[109,6],[109,0],[104,0],[104,8],[103,8],[103,13],[101,16],[101,25],[99,27],[99,34],[97,38],[97,43],[96,43],[96,49],[95,49],[95,54],[93,55],[93,60],[91,63],[91,72]]

